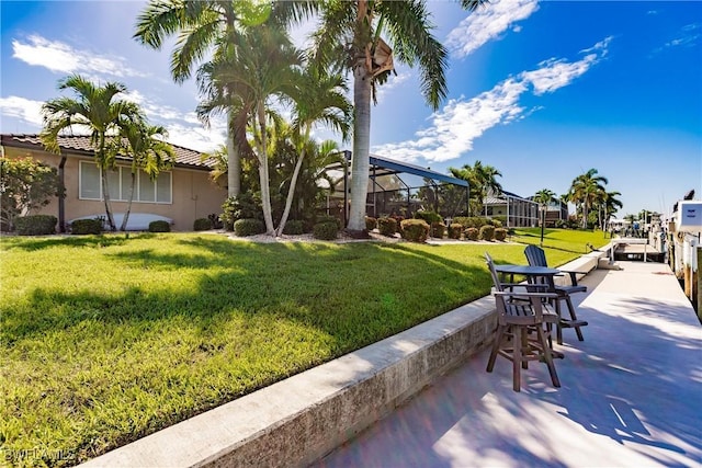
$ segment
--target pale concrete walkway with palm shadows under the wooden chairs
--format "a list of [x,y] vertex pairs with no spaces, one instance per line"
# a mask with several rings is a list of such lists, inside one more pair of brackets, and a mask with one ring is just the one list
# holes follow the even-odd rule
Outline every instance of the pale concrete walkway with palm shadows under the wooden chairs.
[[702,327],[666,265],[619,264],[582,281],[563,387],[532,363],[513,392],[483,352],[318,466],[702,467]]

